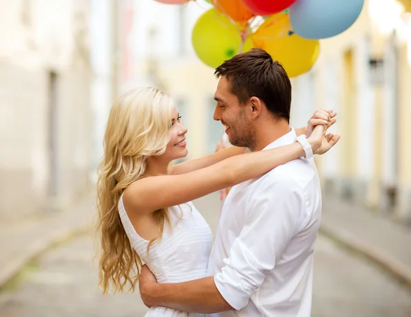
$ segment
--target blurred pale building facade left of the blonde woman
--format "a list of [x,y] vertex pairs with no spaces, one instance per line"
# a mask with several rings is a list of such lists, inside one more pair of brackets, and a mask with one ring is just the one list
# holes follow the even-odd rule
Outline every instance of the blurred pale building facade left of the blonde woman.
[[17,220],[88,185],[90,3],[0,4],[0,218]]

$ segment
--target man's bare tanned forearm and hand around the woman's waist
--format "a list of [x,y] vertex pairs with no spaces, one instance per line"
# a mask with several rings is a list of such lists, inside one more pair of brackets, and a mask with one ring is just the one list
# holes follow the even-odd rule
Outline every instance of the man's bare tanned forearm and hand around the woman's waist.
[[[143,267],[142,278],[147,279],[149,274],[149,269]],[[140,281],[140,295],[146,305],[170,307],[184,312],[212,314],[234,309],[217,290],[213,277],[173,284],[158,284],[155,280]]]

